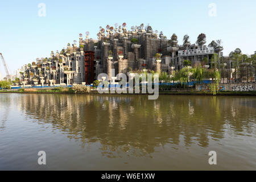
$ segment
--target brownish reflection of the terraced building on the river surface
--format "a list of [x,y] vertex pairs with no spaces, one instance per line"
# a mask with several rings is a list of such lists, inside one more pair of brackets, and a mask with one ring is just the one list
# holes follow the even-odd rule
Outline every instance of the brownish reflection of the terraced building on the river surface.
[[255,135],[254,97],[147,98],[23,94],[16,103],[27,117],[41,125],[51,123],[53,131],[79,139],[82,147],[100,143],[101,154],[108,158],[128,151],[144,156],[166,144],[208,147],[211,139],[221,140],[225,133]]

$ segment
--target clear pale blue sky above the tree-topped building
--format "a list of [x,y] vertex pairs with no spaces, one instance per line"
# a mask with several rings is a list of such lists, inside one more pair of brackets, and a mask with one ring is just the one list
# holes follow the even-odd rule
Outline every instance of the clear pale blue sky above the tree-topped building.
[[[39,3],[46,4],[46,17],[38,16]],[[217,16],[209,16],[215,3]],[[207,43],[222,39],[224,55],[239,47],[243,53],[256,51],[255,0],[129,0],[129,1],[1,1],[0,52],[11,72],[37,57],[49,57],[90,32],[96,38],[98,27],[127,23],[127,27],[150,23],[170,39],[176,33],[179,43],[188,34],[191,42],[203,32]],[[5,75],[2,63],[2,76]]]

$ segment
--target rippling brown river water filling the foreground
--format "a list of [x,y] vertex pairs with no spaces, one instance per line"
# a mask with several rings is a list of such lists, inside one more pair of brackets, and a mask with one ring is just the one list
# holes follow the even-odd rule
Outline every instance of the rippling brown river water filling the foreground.
[[[3,169],[15,168],[6,159],[15,150],[13,140],[16,147],[23,142],[22,155],[32,155],[39,145],[53,153],[65,148],[62,158],[52,158],[53,169],[61,168],[64,157],[75,169],[105,169],[103,161],[109,163],[106,169],[129,169],[129,163],[131,169],[205,169],[210,150],[223,161],[218,169],[236,169],[236,156],[241,160],[237,167],[255,168],[255,97],[160,96],[150,101],[146,96],[1,94],[0,101]],[[81,163],[89,157],[94,165]]]

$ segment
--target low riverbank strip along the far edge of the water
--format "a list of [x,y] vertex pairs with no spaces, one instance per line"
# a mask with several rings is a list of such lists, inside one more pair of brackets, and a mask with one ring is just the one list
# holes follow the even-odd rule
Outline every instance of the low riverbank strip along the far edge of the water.
[[[0,90],[0,93],[26,93],[26,94],[93,94],[97,95],[100,94],[97,91],[92,91],[90,93],[85,92],[75,92],[73,89],[67,89],[67,90]],[[118,95],[117,93],[104,93],[104,95]],[[124,94],[123,94],[124,95]],[[127,95],[131,95],[127,93]],[[144,95],[144,94],[134,94],[134,95]],[[147,94],[146,94],[147,95]],[[211,92],[159,92],[159,95],[189,95],[189,96],[213,96]],[[216,93],[216,96],[256,96],[256,91],[251,92],[218,92]]]

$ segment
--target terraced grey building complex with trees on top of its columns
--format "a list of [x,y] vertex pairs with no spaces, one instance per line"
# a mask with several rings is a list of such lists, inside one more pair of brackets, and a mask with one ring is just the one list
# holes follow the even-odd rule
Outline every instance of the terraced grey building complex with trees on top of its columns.
[[[139,70],[164,71],[172,74],[184,67],[184,60],[192,64],[209,64],[214,53],[221,55],[220,43],[212,42],[206,46],[205,34],[200,34],[195,44],[185,35],[179,45],[173,34],[168,40],[162,32],[153,31],[151,26],[100,27],[98,39],[89,39],[80,34],[76,41],[68,44],[60,52],[51,52],[51,57],[37,59],[31,65],[25,65],[22,73],[23,84],[32,85],[72,85],[92,84],[100,73],[106,73],[109,80],[117,73]],[[208,61],[205,61],[208,60]],[[115,73],[113,72],[115,71]]]

